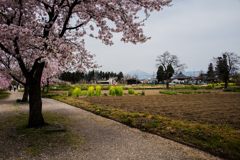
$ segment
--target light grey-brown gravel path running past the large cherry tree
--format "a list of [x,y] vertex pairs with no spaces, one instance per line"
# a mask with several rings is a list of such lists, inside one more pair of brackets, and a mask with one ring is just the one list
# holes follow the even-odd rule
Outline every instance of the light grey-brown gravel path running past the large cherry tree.
[[[16,97],[19,96],[21,95],[14,93],[7,100],[0,100],[0,120],[15,111],[12,109],[12,106]],[[26,112],[27,106],[21,106],[19,110]],[[55,100],[43,99],[43,110],[48,112],[58,112],[59,114],[69,117],[73,123],[72,129],[74,132],[83,137],[84,144],[76,150],[66,150],[65,152],[58,153],[57,155],[42,154],[40,157],[35,159],[218,159],[197,149],[187,147],[156,135],[141,132],[137,129],[130,128],[118,122],[94,115]],[[0,153],[0,155],[1,154],[4,153]]]

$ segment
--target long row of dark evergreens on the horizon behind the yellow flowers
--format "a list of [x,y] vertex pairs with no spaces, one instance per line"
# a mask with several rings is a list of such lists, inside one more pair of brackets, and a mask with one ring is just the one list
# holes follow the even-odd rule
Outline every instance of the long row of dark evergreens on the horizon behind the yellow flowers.
[[123,79],[123,73],[115,73],[115,72],[104,72],[104,71],[96,71],[92,70],[89,72],[63,72],[59,79],[63,81],[68,81],[71,83],[79,83],[79,82],[96,82],[101,80],[108,80],[109,78],[117,78],[117,81],[120,82]]

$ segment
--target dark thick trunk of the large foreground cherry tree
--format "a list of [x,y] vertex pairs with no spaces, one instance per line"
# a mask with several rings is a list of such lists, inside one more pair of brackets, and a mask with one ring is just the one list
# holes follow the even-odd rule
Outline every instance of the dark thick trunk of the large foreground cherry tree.
[[42,116],[42,99],[41,99],[41,77],[45,63],[36,63],[33,72],[29,77],[29,119],[28,127],[42,127],[44,119]]

